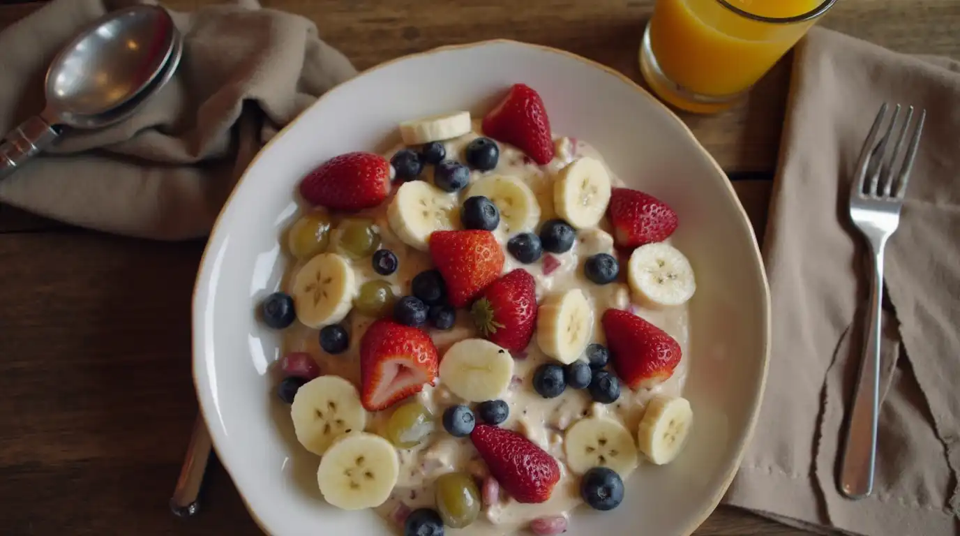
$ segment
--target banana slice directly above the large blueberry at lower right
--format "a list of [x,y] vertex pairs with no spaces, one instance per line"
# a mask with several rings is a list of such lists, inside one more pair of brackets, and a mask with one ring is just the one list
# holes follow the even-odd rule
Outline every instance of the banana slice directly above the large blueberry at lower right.
[[623,478],[636,468],[634,434],[604,417],[581,419],[566,430],[566,465],[583,475],[594,467],[609,467]]

